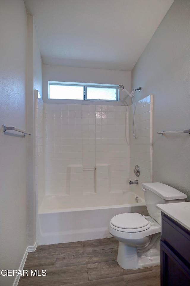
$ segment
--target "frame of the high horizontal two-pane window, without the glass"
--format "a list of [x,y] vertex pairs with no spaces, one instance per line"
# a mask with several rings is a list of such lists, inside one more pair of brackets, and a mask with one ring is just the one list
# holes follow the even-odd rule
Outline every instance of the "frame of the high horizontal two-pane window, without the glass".
[[[50,85],[60,85],[60,86],[83,86],[83,99],[65,99],[65,98],[50,98]],[[106,99],[87,99],[87,87],[93,88],[113,88],[115,89],[115,100],[106,100]],[[99,83],[73,83],[73,82],[58,82],[58,81],[48,81],[48,100],[73,100],[73,101],[97,101],[97,102],[119,102],[119,91],[118,85],[115,84],[99,84]]]

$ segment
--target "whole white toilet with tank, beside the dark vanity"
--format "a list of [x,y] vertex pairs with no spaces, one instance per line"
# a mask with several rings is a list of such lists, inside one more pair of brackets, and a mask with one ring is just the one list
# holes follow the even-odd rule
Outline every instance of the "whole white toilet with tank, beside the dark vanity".
[[143,184],[148,216],[125,213],[112,217],[110,234],[119,241],[118,264],[137,269],[160,264],[161,214],[156,204],[185,202],[187,196],[162,183]]

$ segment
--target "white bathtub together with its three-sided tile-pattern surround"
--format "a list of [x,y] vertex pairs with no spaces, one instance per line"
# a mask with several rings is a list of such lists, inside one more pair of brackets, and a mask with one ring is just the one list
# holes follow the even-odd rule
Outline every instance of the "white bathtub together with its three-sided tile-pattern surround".
[[[129,107],[44,104],[37,94],[37,244],[110,237],[113,216],[147,215],[141,187],[128,184]],[[151,99],[137,105],[141,181],[152,172]]]

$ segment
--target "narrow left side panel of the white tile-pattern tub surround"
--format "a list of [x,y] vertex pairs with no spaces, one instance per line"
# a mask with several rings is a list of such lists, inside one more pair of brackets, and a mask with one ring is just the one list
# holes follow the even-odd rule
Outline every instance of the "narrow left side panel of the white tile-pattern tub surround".
[[44,103],[37,90],[34,91],[35,102],[35,192],[38,194],[38,206],[45,195],[44,172]]

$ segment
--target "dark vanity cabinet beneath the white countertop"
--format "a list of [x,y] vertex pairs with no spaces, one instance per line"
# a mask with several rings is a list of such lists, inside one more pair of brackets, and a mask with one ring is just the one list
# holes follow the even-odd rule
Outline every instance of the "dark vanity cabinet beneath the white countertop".
[[161,286],[190,285],[190,231],[163,212],[160,244]]

